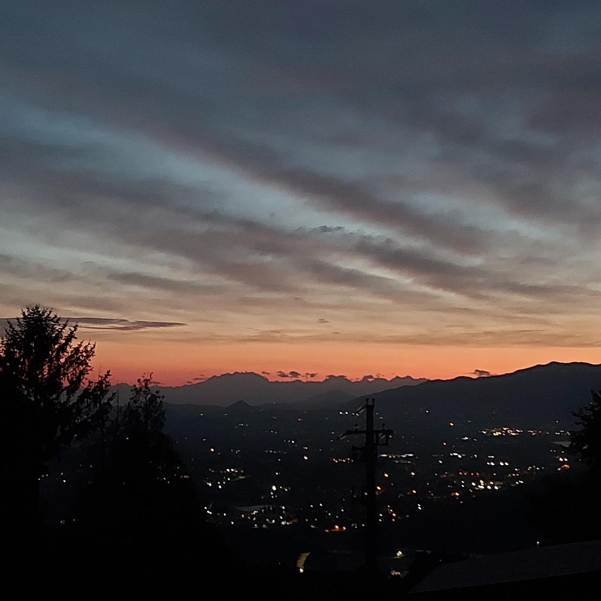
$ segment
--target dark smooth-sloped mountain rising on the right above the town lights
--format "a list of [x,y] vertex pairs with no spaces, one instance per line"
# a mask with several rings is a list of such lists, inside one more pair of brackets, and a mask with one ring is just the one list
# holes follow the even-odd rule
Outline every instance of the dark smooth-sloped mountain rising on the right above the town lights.
[[[572,412],[601,389],[601,365],[534,365],[502,376],[429,380],[373,394],[386,423],[403,433],[473,432],[492,427],[573,429]],[[362,399],[345,404],[355,409]],[[453,426],[451,426],[453,424]]]

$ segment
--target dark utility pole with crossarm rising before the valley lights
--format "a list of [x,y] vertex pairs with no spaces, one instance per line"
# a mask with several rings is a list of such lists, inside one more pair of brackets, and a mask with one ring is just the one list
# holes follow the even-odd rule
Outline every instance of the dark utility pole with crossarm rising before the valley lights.
[[365,404],[356,410],[354,415],[365,411],[365,430],[347,430],[338,436],[338,440],[351,435],[365,435],[364,447],[352,447],[361,453],[365,461],[365,570],[370,578],[377,576],[377,511],[376,511],[376,463],[378,447],[388,447],[388,440],[393,431],[382,424],[381,430],[374,430],[375,398],[366,398]]

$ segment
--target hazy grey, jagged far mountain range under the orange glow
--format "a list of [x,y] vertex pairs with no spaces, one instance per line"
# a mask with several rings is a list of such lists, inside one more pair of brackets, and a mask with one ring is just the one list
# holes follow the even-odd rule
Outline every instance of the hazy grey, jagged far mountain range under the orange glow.
[[[183,386],[158,386],[165,401],[174,404],[230,406],[237,401],[250,405],[263,403],[304,403],[308,407],[341,404],[350,398],[374,394],[385,388],[415,386],[426,382],[411,376],[396,376],[391,380],[364,376],[353,382],[345,376],[328,376],[321,381],[288,380],[270,382],[254,372],[234,372],[212,376],[203,382]],[[130,386],[118,384],[121,395],[129,397]]]

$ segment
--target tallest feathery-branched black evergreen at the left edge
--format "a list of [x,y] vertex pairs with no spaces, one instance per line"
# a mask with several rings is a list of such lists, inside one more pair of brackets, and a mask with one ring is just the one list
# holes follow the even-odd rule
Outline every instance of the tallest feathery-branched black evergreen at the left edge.
[[90,379],[96,346],[78,342],[78,326],[52,310],[27,307],[0,339],[2,495],[13,529],[35,528],[39,479],[59,448],[104,423],[110,373]]

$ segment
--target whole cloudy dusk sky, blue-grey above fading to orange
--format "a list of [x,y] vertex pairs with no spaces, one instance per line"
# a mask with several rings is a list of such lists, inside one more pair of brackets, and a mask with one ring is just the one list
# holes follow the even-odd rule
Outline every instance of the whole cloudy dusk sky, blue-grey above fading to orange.
[[0,317],[117,379],[601,362],[601,4],[0,4]]

